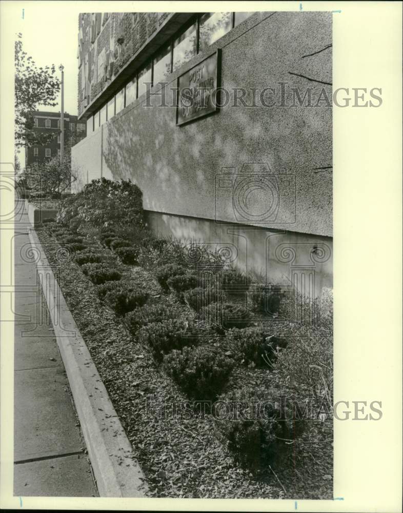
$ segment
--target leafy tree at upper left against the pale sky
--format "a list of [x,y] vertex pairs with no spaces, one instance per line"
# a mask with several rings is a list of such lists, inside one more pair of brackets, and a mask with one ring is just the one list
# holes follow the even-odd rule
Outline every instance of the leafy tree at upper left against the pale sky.
[[60,81],[55,76],[54,64],[38,68],[32,57],[23,51],[22,34],[15,41],[15,145],[44,145],[53,134],[36,132],[33,113],[37,106],[55,107]]

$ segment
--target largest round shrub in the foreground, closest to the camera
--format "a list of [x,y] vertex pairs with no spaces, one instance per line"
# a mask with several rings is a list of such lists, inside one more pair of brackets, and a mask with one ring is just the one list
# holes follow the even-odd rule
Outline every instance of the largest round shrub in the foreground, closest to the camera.
[[213,411],[219,438],[235,459],[252,470],[280,462],[304,430],[304,421],[293,420],[292,408],[269,402],[264,388],[244,387],[219,397]]

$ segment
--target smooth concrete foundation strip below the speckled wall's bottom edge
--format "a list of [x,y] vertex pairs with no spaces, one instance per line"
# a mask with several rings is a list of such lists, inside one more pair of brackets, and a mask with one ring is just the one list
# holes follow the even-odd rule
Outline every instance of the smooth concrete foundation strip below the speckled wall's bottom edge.
[[152,211],[147,214],[148,225],[157,236],[207,244],[212,251],[218,249],[233,266],[253,272],[264,283],[293,284],[310,297],[319,295],[323,287],[333,287],[330,237]]

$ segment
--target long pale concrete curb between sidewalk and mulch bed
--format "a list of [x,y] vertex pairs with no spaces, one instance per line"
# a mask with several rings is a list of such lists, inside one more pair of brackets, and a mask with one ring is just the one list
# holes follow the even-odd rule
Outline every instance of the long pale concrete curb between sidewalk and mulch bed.
[[143,471],[120,424],[38,236],[29,229],[36,269],[52,319],[100,497],[146,497]]

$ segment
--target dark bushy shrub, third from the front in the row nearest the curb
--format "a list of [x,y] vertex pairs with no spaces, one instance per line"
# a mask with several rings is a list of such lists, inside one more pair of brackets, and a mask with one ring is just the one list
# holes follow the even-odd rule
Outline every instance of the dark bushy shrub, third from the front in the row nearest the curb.
[[157,361],[173,349],[182,349],[198,341],[197,334],[187,329],[186,323],[179,320],[153,322],[137,331],[137,340],[147,344]]

